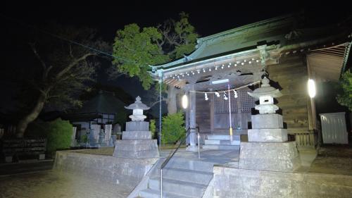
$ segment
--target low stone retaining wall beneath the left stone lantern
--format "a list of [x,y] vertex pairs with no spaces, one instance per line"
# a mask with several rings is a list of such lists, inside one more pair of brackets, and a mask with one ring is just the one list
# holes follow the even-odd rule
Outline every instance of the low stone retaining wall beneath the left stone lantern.
[[134,188],[158,159],[127,159],[113,156],[56,151],[54,170],[93,180]]

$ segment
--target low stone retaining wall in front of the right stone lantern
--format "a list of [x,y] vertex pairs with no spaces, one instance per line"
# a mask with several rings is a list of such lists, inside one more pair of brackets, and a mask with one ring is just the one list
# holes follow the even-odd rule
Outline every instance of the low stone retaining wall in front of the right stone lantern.
[[347,198],[352,175],[283,173],[214,167],[214,198]]

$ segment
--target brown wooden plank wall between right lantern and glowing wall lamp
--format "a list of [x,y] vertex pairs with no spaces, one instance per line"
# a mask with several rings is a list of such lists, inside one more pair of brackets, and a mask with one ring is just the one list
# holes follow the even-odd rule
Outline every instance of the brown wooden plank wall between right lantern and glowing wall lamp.
[[[282,97],[277,99],[284,123],[289,132],[308,130],[308,72],[303,55],[284,56],[280,63],[268,66],[270,80],[282,87]],[[275,84],[270,84],[275,87]]]

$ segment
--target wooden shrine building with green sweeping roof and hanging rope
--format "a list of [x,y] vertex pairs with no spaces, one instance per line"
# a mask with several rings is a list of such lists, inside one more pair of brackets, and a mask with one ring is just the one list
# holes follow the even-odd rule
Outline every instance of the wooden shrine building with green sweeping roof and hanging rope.
[[253,87],[246,85],[260,86],[257,82],[268,73],[270,84],[284,94],[277,105],[289,133],[298,144],[314,146],[317,115],[307,81],[339,80],[351,49],[351,27],[348,20],[304,27],[295,16],[271,18],[199,38],[189,56],[152,66],[152,75],[189,95],[187,127],[199,125],[203,135],[220,135],[230,128],[228,87],[238,96],[230,92],[234,134],[246,134],[255,105],[246,94]]

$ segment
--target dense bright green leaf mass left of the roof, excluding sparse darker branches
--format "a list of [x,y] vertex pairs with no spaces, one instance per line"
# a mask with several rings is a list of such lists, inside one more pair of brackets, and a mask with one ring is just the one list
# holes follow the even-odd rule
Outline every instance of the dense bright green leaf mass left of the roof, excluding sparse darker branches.
[[168,61],[155,41],[162,35],[156,27],[141,28],[133,23],[118,30],[113,44],[113,60],[118,71],[130,77],[138,76],[144,89],[149,89],[152,79],[149,76],[149,65]]

